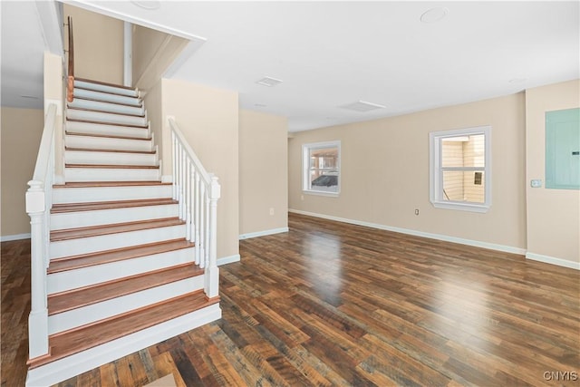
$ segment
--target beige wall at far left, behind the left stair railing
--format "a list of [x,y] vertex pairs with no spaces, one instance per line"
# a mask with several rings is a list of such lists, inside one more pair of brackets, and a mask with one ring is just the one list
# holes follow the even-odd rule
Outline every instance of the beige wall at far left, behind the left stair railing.
[[33,178],[34,163],[43,134],[44,114],[40,109],[1,110],[2,219],[0,235],[30,233],[24,194]]

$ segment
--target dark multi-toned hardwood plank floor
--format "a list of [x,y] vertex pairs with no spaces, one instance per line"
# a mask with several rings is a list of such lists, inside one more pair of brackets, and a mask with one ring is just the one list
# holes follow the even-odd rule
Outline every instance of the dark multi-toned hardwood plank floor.
[[[580,272],[291,214],[220,267],[223,318],[59,384],[580,384]],[[27,241],[2,243],[2,386],[22,386]]]

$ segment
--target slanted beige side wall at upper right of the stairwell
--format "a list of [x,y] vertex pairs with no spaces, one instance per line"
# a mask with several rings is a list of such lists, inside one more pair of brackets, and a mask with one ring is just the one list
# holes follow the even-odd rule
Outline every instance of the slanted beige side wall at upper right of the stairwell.
[[148,91],[159,82],[169,64],[189,41],[136,24],[133,25],[132,32],[133,85],[142,91]]

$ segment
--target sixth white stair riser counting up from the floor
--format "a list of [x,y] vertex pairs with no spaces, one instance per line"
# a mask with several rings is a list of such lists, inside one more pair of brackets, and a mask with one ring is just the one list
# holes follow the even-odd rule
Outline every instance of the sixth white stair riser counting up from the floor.
[[53,203],[171,198],[171,195],[170,185],[56,188],[53,189]]

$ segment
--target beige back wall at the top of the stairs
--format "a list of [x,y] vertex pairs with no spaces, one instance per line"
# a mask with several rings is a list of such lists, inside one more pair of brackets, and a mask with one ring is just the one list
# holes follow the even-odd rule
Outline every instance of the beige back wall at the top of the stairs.
[[[66,4],[63,14],[64,20],[73,16],[74,75],[122,84],[123,22]],[[68,32],[64,46],[68,50]]]

